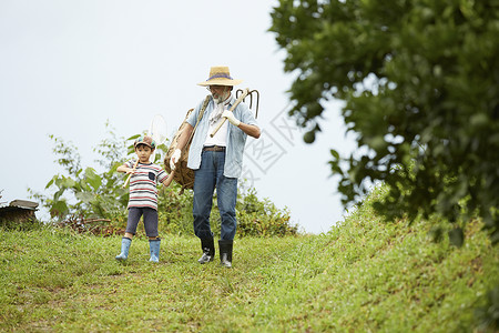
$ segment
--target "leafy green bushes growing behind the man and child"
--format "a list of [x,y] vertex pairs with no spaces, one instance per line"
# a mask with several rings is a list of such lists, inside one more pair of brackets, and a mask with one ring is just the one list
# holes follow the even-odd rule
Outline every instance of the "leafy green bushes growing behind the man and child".
[[[37,193],[30,190],[31,196],[49,210],[51,223],[61,228],[70,228],[80,233],[123,234],[126,229],[129,200],[128,189],[122,189],[123,174],[116,168],[134,157],[133,135],[125,140],[118,138],[110,125],[108,139],[101,141],[94,151],[100,155],[96,161],[103,172],[94,168],[83,168],[78,149],[65,143],[61,138],[50,135],[55,143],[53,152],[55,160],[64,168],[65,174],[55,174],[47,184],[45,190],[53,193]],[[162,164],[166,145],[157,147],[160,154],[155,163]],[[123,158],[125,157],[125,158]],[[181,185],[172,182],[169,188],[159,188],[159,231],[161,234],[192,235],[192,190],[183,191]],[[212,230],[220,235],[220,214],[216,196],[211,215]],[[238,194],[236,213],[238,235],[274,236],[297,233],[297,226],[289,222],[287,209],[277,209],[268,199],[263,201],[251,189],[246,194]],[[145,235],[143,224],[139,224],[138,235]]]

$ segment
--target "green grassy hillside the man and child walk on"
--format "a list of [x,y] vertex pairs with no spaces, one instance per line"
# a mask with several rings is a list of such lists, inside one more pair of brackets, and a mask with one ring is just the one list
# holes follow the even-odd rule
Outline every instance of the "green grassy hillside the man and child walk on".
[[[194,238],[0,231],[1,331],[470,332],[499,282],[480,223],[461,249],[427,223],[384,223],[367,203],[329,233],[237,239],[234,268],[198,265]],[[218,260],[218,259],[216,259]]]

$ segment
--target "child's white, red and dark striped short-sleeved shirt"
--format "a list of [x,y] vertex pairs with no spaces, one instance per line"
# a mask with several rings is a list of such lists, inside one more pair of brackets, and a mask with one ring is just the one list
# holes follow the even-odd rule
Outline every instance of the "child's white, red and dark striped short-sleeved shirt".
[[[135,161],[128,161],[125,165],[133,168]],[[157,211],[157,183],[167,178],[160,165],[139,162],[135,173],[130,179],[130,208],[151,208]]]

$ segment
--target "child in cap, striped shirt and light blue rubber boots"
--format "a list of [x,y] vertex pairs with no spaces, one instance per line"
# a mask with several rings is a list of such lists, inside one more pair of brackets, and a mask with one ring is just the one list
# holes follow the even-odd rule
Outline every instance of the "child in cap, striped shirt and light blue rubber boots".
[[160,243],[161,239],[157,234],[157,182],[165,186],[170,185],[173,180],[174,170],[166,174],[166,172],[159,165],[149,161],[150,157],[154,154],[156,143],[151,137],[143,135],[133,143],[135,153],[139,158],[139,163],[129,161],[123,165],[118,167],[118,172],[132,173],[130,179],[130,200],[129,200],[129,220],[126,223],[126,231],[121,241],[121,253],[116,255],[116,260],[126,260],[129,256],[130,244],[132,238],[136,232],[139,220],[144,215],[145,234],[149,238],[149,246],[151,250],[152,262],[160,261]]

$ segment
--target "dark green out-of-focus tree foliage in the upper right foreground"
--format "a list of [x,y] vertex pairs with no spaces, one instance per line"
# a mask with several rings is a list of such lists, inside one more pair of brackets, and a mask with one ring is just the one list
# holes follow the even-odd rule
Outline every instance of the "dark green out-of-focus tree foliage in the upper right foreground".
[[387,216],[440,214],[459,243],[478,214],[499,242],[499,1],[281,0],[272,19],[304,140],[345,101],[359,148],[332,150],[345,204],[383,181]]

